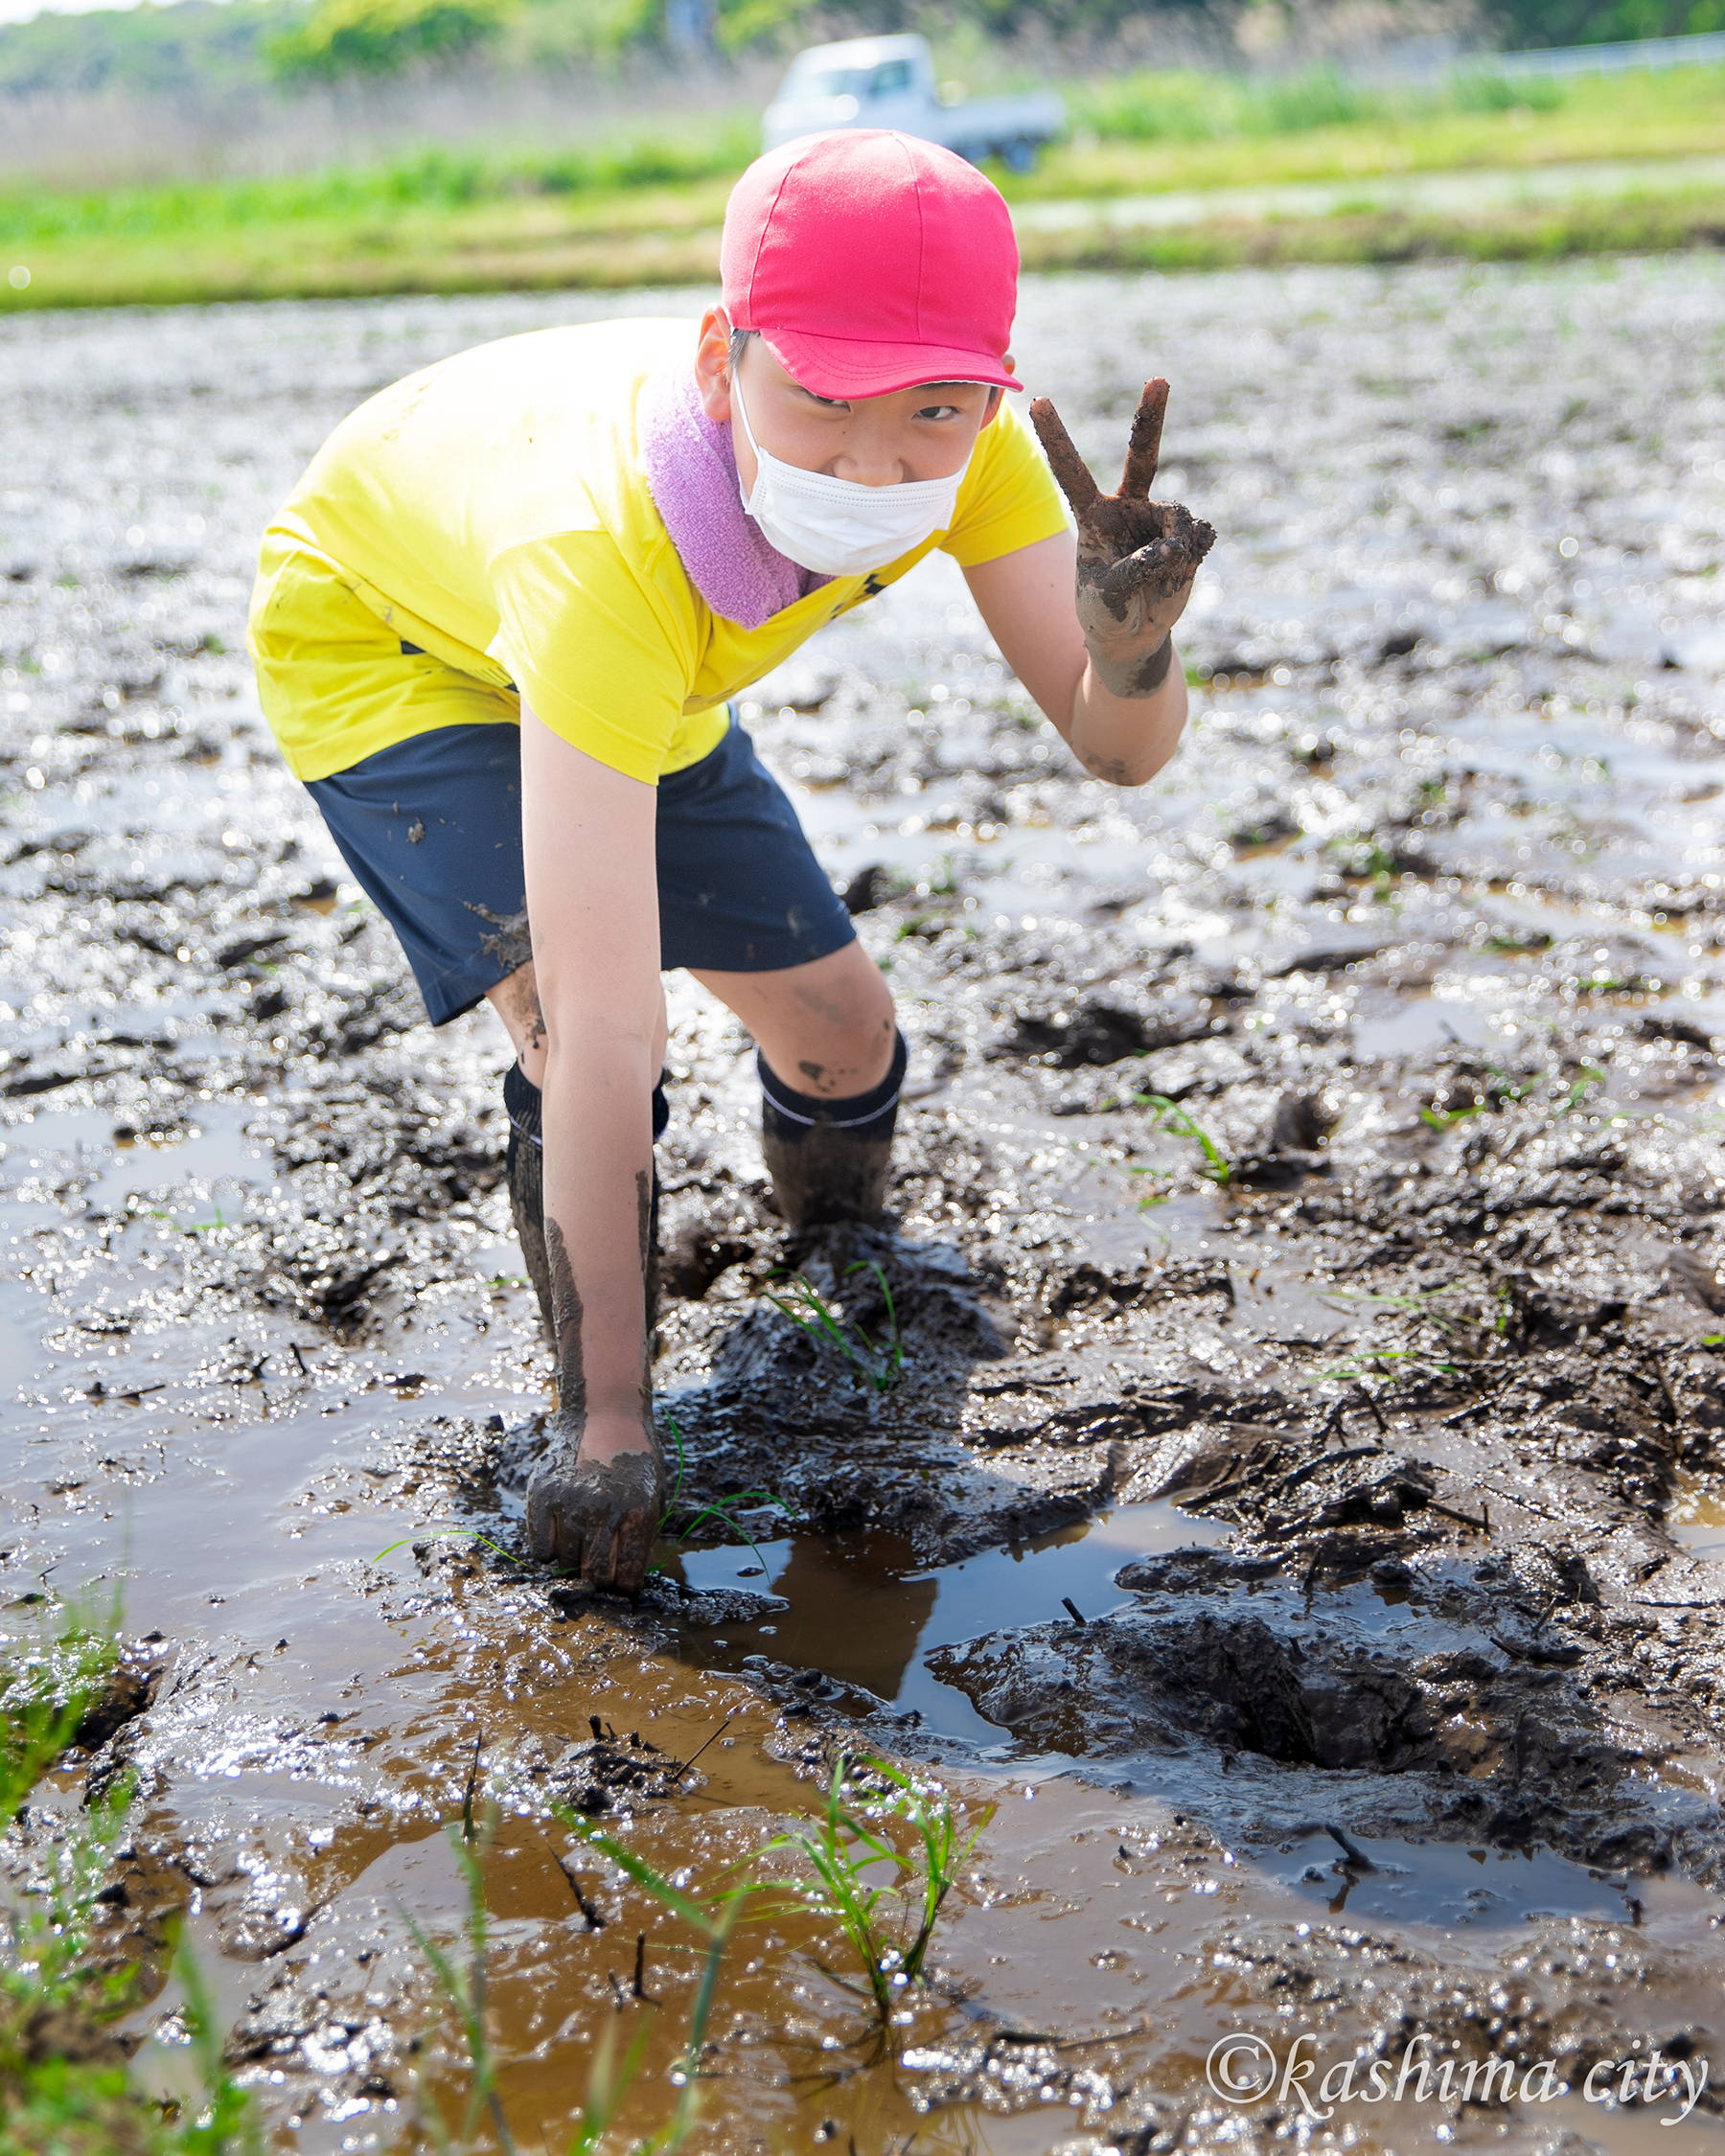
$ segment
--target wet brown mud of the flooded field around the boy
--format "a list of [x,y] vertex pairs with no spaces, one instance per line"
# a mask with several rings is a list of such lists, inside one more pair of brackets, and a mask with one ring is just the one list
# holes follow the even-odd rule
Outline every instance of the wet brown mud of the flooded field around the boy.
[[[129,1643],[19,1878],[129,1770],[116,1958],[183,1910],[278,2141],[395,2145],[459,2087],[403,1912],[459,1925],[477,1757],[502,2093],[556,2145],[643,1932],[664,2117],[694,1958],[552,1805],[703,1880],[873,1749],[998,1807],[938,1981],[882,2061],[830,1940],[748,1936],[703,2145],[1719,2147],[1716,278],[1026,287],[1098,468],[1173,379],[1164,487],[1220,533],[1195,720],[1141,793],[1089,780],[940,567],[757,690],[908,1106],[888,1227],[787,1235],[744,1037],[673,979],[679,1524],[774,1503],[666,1539],[636,1611],[518,1561],[550,1363],[502,1037],[420,1022],[242,651],[351,403],[627,304],[0,338],[0,1591],[22,1634],[119,1583]],[[1669,2130],[1320,2124],[1212,2093],[1229,2031],[1719,2072]],[[132,2035],[172,2085],[172,1990]]]

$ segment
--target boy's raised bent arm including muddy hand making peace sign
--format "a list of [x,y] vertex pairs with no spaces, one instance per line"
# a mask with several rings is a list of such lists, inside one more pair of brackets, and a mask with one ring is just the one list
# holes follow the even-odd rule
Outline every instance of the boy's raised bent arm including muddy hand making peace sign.
[[966,571],[1007,664],[1074,755],[1098,778],[1128,787],[1154,778],[1186,724],[1171,632],[1216,539],[1177,502],[1149,500],[1167,395],[1167,382],[1145,384],[1126,474],[1106,496],[1039,397],[1031,420],[1078,539],[1061,533]]

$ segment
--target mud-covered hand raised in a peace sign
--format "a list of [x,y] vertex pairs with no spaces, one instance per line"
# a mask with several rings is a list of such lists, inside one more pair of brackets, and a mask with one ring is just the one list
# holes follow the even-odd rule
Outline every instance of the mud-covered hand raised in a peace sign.
[[1078,625],[1098,679],[1115,696],[1151,696],[1169,671],[1169,634],[1192,597],[1199,563],[1216,533],[1182,502],[1151,502],[1162,453],[1169,384],[1145,382],[1113,494],[1091,479],[1061,414],[1046,397],[1031,405],[1048,464],[1078,520]]

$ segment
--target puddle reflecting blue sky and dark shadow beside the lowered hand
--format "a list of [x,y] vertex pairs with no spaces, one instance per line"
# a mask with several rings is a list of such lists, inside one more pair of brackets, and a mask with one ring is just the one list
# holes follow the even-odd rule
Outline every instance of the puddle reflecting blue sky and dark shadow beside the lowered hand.
[[1009,1757],[1011,1738],[985,1720],[964,1692],[942,1684],[927,1656],[1000,1626],[1067,1619],[1072,1600],[1085,1617],[1130,1602],[1115,1574],[1132,1557],[1218,1548],[1227,1529],[1175,1505],[1121,1505],[1057,1535],[983,1550],[960,1565],[916,1570],[895,1535],[796,1535],[750,1550],[684,1550],[690,1587],[748,1587],[791,1606],[750,1626],[690,1634],[703,1669],[744,1669],[750,1658],[817,1669],[854,1684],[925,1733],[968,1738]]

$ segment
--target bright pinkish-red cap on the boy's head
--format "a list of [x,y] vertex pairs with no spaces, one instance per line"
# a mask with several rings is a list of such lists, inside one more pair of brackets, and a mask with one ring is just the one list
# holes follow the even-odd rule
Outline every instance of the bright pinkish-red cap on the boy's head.
[[1022,384],[1000,364],[1018,306],[1011,216],[981,172],[858,127],[757,157],[731,190],[724,308],[817,397],[919,382]]

